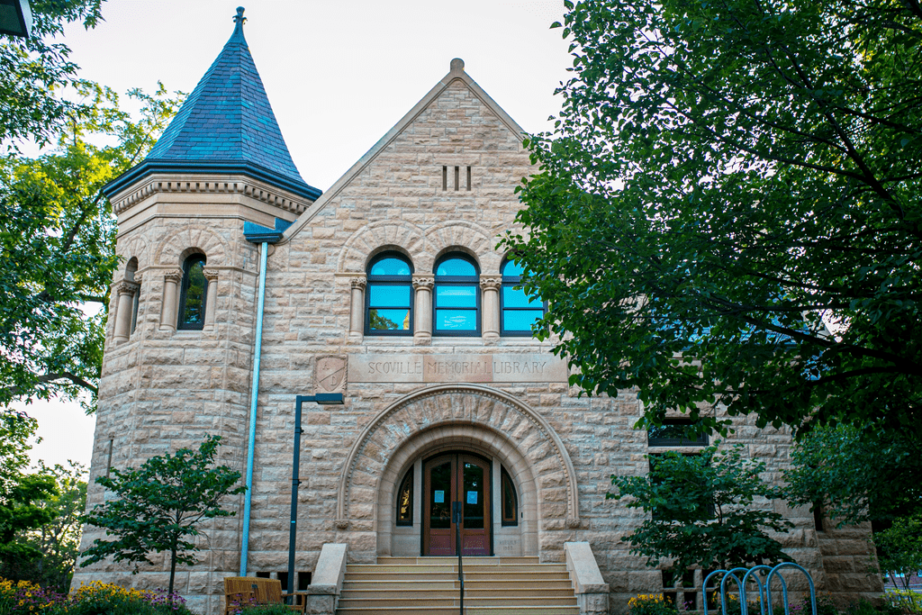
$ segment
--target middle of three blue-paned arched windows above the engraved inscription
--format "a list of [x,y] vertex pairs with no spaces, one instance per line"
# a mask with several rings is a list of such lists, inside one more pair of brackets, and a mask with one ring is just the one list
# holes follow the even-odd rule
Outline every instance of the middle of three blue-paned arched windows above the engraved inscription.
[[433,336],[480,335],[477,264],[465,254],[447,254],[435,265]]

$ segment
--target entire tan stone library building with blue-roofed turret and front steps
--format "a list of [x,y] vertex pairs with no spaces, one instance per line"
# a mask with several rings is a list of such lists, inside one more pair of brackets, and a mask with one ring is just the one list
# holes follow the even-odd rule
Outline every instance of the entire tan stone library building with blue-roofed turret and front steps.
[[[469,614],[621,613],[664,593],[700,609],[700,572],[677,586],[630,554],[643,513],[605,495],[645,455],[706,442],[632,429],[635,392],[579,396],[554,340],[531,337],[544,302],[497,248],[532,171],[522,128],[460,59],[395,120],[328,190],[305,183],[238,11],[147,159],[106,187],[121,260],[89,507],[112,468],[218,435],[249,490],[178,569],[196,612],[223,613],[224,578],[251,576],[308,612],[457,613],[459,550]],[[791,437],[742,419],[724,444],[780,479]],[[874,585],[865,530],[762,505],[795,524],[786,552],[820,591]],[[82,548],[103,536],[87,526]],[[168,554],[151,558],[78,568],[75,586],[166,587]]]

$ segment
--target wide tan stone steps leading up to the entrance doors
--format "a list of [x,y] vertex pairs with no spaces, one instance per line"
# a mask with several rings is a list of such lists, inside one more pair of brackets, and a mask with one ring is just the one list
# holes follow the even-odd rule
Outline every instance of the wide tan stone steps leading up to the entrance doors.
[[[464,558],[466,615],[577,615],[562,563]],[[349,564],[337,615],[457,615],[457,558],[391,558]]]

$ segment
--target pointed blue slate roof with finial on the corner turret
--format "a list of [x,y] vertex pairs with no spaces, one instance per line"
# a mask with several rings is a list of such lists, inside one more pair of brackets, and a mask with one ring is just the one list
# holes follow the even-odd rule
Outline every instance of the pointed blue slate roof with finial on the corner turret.
[[243,173],[316,199],[301,179],[243,37],[243,9],[214,64],[148,157],[106,186],[115,194],[150,172]]

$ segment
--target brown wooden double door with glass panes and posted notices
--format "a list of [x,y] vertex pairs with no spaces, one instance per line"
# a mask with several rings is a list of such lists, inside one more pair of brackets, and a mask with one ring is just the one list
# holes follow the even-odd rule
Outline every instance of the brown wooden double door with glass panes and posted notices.
[[464,452],[423,464],[423,555],[491,555],[490,462]]

